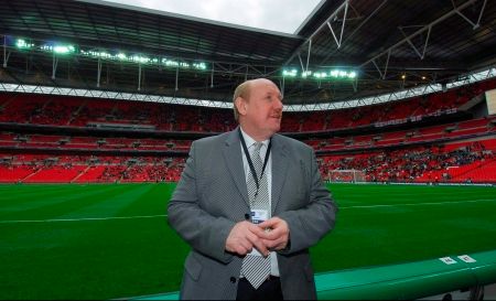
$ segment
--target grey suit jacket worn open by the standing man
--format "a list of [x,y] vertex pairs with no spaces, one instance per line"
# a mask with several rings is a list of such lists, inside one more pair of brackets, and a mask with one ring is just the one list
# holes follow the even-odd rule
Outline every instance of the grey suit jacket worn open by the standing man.
[[[309,247],[334,227],[337,207],[321,181],[313,150],[272,137],[272,216],[290,228],[278,252],[284,299],[316,299]],[[242,257],[225,250],[234,225],[250,212],[238,131],[193,142],[169,203],[169,223],[192,247],[181,299],[236,299]]]

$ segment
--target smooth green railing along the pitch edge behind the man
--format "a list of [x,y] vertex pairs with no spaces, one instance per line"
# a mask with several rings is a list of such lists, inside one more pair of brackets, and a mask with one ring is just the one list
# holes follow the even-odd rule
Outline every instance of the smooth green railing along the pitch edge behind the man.
[[[412,300],[496,282],[496,250],[315,275],[321,300]],[[468,259],[468,260],[467,260]],[[473,259],[473,260],[471,260]],[[132,300],[177,300],[171,292]]]

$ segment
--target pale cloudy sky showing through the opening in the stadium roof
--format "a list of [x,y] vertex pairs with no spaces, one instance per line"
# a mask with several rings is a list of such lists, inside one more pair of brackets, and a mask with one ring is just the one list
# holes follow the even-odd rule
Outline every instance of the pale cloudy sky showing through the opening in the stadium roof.
[[321,0],[106,0],[250,28],[295,33]]

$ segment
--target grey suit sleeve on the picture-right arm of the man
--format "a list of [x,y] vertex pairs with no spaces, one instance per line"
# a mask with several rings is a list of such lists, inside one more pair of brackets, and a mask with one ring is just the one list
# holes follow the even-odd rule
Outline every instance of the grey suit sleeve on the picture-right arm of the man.
[[280,251],[281,255],[291,255],[315,245],[335,224],[337,206],[321,180],[313,150],[308,151],[304,162],[309,176],[309,181],[304,181],[310,190],[309,200],[299,209],[279,214],[290,228],[290,244]]

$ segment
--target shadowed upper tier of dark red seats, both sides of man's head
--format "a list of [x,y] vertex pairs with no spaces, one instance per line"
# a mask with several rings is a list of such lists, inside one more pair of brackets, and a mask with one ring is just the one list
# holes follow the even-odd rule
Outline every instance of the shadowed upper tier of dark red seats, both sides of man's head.
[[[490,89],[496,80],[478,84]],[[455,112],[470,98],[462,88],[444,94],[342,109],[338,111],[287,112],[283,132],[312,132],[393,125],[411,118]],[[463,88],[467,90],[467,88]],[[482,92],[479,92],[481,94]],[[468,95],[474,95],[471,90]],[[0,122],[88,127],[91,125],[149,126],[165,131],[223,132],[235,128],[233,112],[215,108],[192,108],[179,105],[142,101],[116,101],[83,97],[3,94]],[[192,122],[195,120],[195,122]]]

